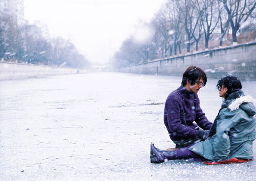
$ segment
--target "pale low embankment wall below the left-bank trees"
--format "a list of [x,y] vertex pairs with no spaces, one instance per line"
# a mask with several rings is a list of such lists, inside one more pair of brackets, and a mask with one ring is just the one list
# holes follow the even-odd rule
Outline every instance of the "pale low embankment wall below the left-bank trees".
[[84,72],[84,70],[0,62],[0,80],[24,79],[28,77],[44,77],[48,75],[73,74],[81,72]]

